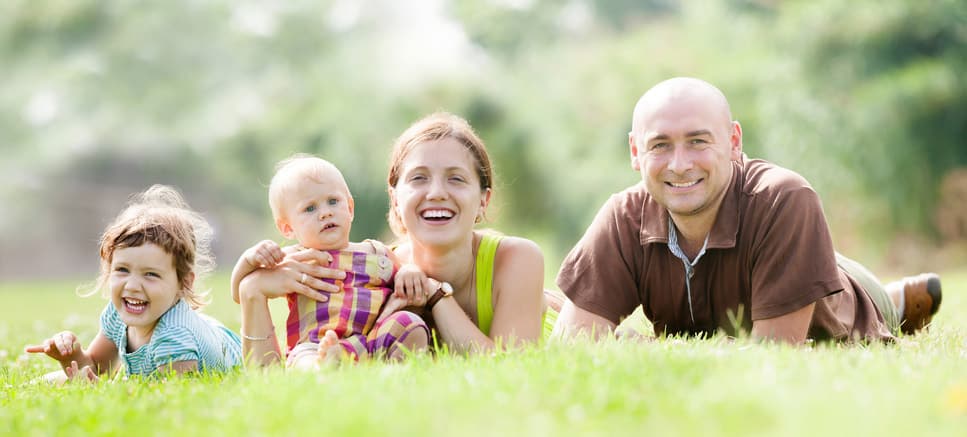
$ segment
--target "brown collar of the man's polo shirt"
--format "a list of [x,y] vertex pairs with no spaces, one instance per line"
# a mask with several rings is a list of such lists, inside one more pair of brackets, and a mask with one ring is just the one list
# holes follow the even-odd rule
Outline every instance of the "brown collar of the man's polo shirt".
[[[739,197],[745,182],[746,156],[742,160],[732,163],[732,180],[725,189],[725,198],[719,208],[712,232],[708,236],[708,249],[727,249],[735,247],[736,236],[739,233]],[[642,184],[642,190],[645,189]],[[668,210],[655,202],[650,194],[641,207],[641,244],[668,243],[668,223],[671,220]]]

